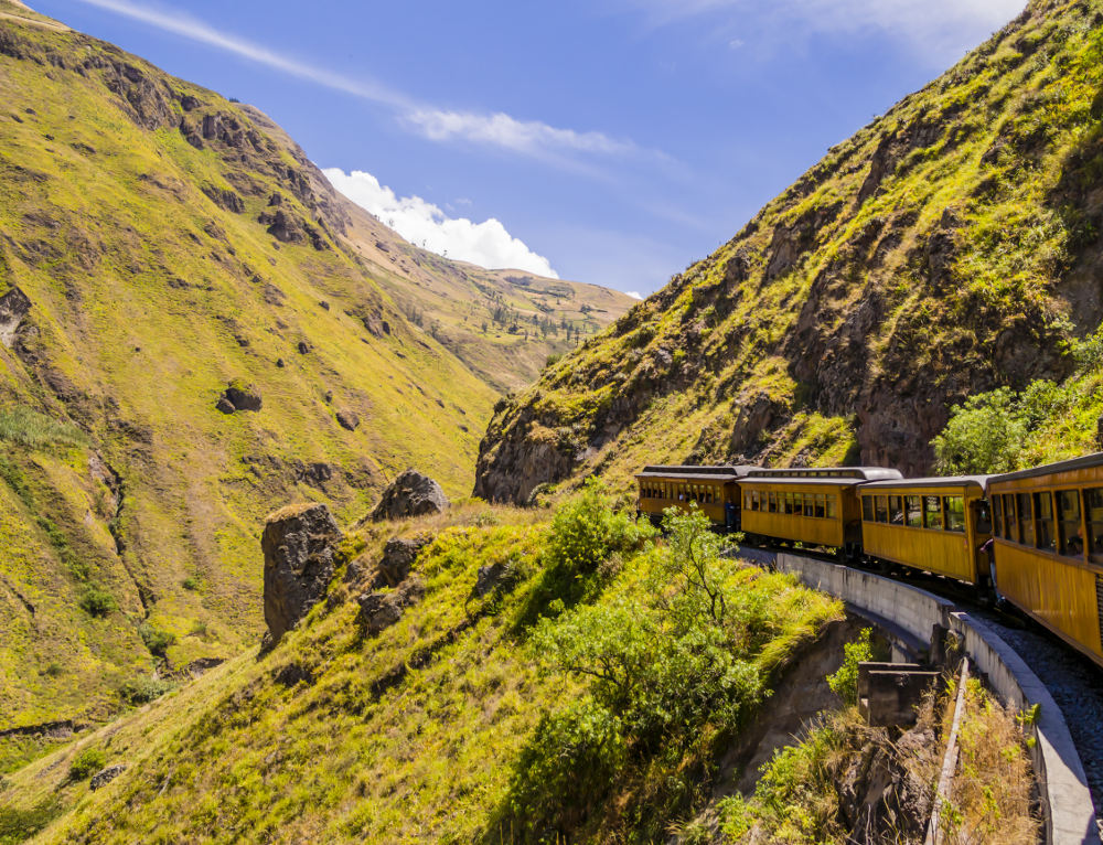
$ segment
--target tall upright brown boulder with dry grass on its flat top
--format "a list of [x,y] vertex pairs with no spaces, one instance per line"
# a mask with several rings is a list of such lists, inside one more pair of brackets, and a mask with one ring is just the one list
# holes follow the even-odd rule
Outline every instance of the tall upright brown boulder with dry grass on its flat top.
[[265,554],[265,622],[272,643],[325,595],[341,531],[324,504],[298,504],[270,514]]

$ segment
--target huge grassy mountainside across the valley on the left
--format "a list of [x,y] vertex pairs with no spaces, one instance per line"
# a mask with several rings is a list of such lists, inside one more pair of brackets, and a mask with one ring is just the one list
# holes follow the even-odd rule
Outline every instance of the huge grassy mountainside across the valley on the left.
[[267,512],[462,495],[501,392],[630,302],[416,249],[257,109],[10,0],[0,104],[0,731],[255,642]]

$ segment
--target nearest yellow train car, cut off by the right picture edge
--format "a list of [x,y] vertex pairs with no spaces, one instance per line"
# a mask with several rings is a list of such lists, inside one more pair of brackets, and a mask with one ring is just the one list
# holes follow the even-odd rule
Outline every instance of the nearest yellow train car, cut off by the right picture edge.
[[988,482],[996,588],[1103,665],[1103,453]]

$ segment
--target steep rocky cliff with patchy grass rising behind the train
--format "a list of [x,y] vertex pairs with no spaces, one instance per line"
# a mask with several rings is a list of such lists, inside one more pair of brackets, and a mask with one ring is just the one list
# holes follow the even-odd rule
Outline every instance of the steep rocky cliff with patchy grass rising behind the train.
[[1034,2],[500,404],[474,492],[662,461],[930,470],[949,406],[1103,318],[1103,12]]

